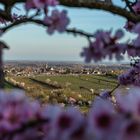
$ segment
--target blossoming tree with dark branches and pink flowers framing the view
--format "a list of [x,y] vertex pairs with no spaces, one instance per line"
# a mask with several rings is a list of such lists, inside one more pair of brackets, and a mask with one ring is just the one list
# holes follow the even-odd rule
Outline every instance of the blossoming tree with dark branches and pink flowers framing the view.
[[[47,28],[48,34],[55,31],[80,35],[87,38],[89,45],[81,56],[86,62],[100,61],[106,56],[122,60],[122,54],[132,58],[140,56],[140,1],[120,0],[125,6],[119,7],[111,0],[0,0],[1,35],[17,25],[35,23]],[[25,4],[26,15],[12,13],[17,3]],[[127,20],[127,31],[137,34],[129,42],[120,42],[124,37],[122,30],[115,34],[99,30],[94,34],[83,30],[70,29],[67,11],[55,7],[63,5],[74,8],[98,9],[119,15]],[[48,14],[49,7],[53,7]],[[33,10],[34,14],[29,12]],[[50,12],[50,11],[49,11]],[[42,19],[38,18],[43,15]],[[119,85],[134,85],[128,94],[117,94],[111,99],[112,91],[105,91],[93,102],[88,117],[74,108],[64,110],[58,106],[41,108],[40,104],[30,102],[21,94],[3,94],[0,96],[0,139],[115,139],[138,140],[140,138],[140,63],[136,60],[133,67],[119,76]],[[3,79],[3,78],[1,78]],[[118,91],[120,93],[122,91]],[[25,117],[26,116],[26,117]],[[61,134],[61,135],[60,135]],[[59,137],[58,137],[59,136]]]

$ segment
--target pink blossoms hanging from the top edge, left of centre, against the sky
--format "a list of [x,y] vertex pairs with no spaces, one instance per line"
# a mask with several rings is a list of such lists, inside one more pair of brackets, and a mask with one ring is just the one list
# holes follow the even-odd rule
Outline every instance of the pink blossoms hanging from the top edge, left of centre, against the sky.
[[27,0],[25,8],[27,11],[30,9],[43,9],[45,14],[43,22],[48,27],[48,34],[53,34],[54,31],[58,31],[60,33],[64,32],[70,23],[70,20],[67,17],[67,12],[65,10],[60,12],[58,9],[53,9],[51,11],[51,15],[49,15],[48,7],[55,7],[58,4],[59,2],[57,0]]

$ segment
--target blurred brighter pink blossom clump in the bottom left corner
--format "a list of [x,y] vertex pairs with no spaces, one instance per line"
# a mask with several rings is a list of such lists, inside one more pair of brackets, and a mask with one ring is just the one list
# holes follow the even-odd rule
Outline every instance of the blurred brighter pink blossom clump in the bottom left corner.
[[37,119],[38,114],[40,105],[37,102],[30,102],[21,91],[14,91],[11,94],[0,93],[1,133],[20,128],[23,123]]

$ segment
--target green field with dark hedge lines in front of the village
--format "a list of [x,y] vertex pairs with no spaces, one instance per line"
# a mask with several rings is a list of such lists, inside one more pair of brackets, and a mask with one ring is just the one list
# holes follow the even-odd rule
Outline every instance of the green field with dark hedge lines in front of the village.
[[70,97],[78,101],[92,101],[100,92],[105,89],[112,90],[117,85],[117,79],[104,75],[39,75],[10,78],[24,83],[22,88],[27,95],[42,103],[66,103]]

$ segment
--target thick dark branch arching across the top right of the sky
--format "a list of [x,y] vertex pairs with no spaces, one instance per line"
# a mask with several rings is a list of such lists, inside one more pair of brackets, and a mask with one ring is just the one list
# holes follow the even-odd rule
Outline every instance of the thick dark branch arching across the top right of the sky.
[[60,1],[60,5],[66,7],[104,10],[107,12],[111,12],[115,15],[122,16],[129,21],[133,21],[134,23],[140,22],[140,16],[136,16],[131,11],[127,11],[121,7],[106,4],[104,2],[94,2],[94,1],[85,2],[84,0],[59,0],[59,1]]

